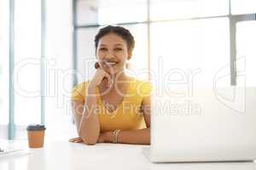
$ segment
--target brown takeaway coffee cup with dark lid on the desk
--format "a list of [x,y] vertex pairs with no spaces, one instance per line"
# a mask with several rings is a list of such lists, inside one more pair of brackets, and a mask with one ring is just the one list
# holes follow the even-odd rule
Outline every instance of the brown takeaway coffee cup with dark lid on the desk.
[[32,124],[26,127],[28,146],[30,148],[44,147],[44,125]]

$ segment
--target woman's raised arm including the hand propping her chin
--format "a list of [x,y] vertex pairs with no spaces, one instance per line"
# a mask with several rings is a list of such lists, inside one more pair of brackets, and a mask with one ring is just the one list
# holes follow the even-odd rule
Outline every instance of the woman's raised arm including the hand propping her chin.
[[100,134],[100,122],[96,112],[98,106],[96,105],[96,87],[102,83],[103,79],[107,80],[108,87],[112,85],[111,77],[108,72],[97,67],[95,76],[86,88],[86,96],[84,99],[85,104],[81,105],[76,102],[73,104],[73,114],[78,128],[79,137],[83,139],[85,144],[96,144],[96,142],[101,140],[102,137]]

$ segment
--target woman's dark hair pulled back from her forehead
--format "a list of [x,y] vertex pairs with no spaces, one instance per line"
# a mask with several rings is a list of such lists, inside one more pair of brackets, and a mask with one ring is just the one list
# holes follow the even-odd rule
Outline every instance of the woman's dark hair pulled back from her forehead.
[[131,35],[131,32],[122,26],[105,26],[102,29],[100,29],[100,31],[98,31],[98,33],[96,34],[96,37],[94,39],[96,49],[98,47],[99,40],[101,39],[101,37],[106,36],[109,33],[115,33],[119,37],[122,37],[125,40],[125,42],[127,43],[128,53],[130,55],[132,54],[132,50],[135,45],[134,38]]

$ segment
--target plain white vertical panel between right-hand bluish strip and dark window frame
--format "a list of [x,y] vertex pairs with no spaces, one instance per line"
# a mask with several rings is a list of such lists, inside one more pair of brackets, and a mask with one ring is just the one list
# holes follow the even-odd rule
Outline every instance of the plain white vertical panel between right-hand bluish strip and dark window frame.
[[44,114],[48,140],[76,136],[70,94],[73,83],[71,1],[45,0]]

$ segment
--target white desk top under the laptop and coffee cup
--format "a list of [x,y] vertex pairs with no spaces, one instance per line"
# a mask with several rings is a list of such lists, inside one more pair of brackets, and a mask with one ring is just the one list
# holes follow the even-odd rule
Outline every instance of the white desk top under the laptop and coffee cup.
[[[26,141],[1,141],[9,149],[26,148]],[[32,155],[0,160],[0,170],[254,170],[256,163],[151,163],[142,147],[130,144],[73,144],[67,141],[45,142],[44,149],[33,149]]]

